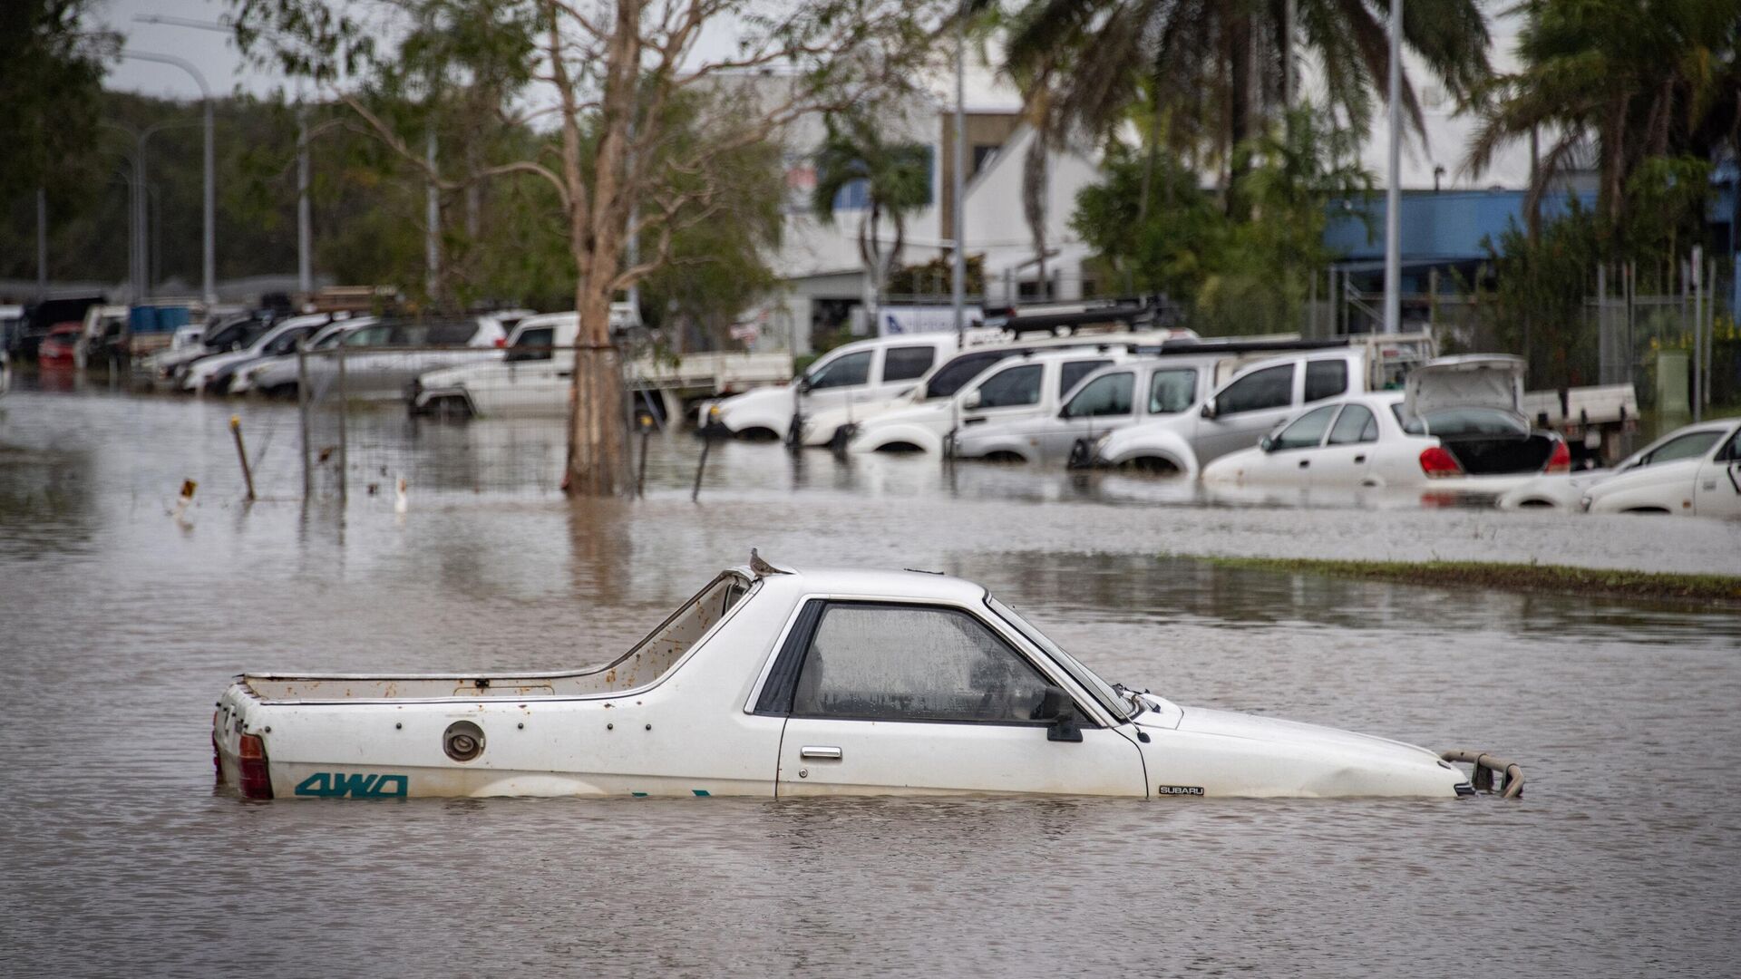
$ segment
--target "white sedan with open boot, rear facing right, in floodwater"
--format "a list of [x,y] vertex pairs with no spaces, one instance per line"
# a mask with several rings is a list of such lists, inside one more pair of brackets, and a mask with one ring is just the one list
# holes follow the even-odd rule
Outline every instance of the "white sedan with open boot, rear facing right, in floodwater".
[[1257,448],[1208,463],[1203,483],[1497,495],[1543,472],[1565,472],[1570,462],[1565,441],[1530,432],[1515,413],[1440,406],[1414,416],[1402,392],[1382,392],[1292,418]]

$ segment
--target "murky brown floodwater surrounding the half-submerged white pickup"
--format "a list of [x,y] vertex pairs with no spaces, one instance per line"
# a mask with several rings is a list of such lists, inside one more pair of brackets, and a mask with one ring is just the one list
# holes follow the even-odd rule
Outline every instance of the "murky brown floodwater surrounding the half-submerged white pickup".
[[[7,976],[1734,972],[1741,615],[1161,557],[1741,573],[1734,524],[1203,507],[1137,479],[794,463],[754,444],[721,446],[691,505],[696,446],[676,435],[655,439],[644,502],[571,505],[501,474],[543,472],[533,456],[559,451],[559,432],[388,415],[355,458],[380,458],[383,484],[404,472],[409,512],[353,484],[341,519],[296,500],[284,406],[242,408],[268,496],[242,505],[232,411],[0,399]],[[211,704],[244,667],[599,662],[752,545],[792,564],[959,573],[1107,679],[1501,751],[1529,794],[244,803],[212,789]]]

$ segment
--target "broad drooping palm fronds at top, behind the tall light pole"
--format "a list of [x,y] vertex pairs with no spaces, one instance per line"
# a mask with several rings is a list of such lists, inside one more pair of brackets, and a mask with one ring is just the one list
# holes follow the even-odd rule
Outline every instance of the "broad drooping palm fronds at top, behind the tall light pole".
[[[1006,68],[1048,103],[1050,125],[1106,139],[1144,106],[1146,139],[1200,138],[1231,183],[1234,150],[1299,99],[1301,51],[1330,105],[1365,127],[1389,71],[1388,24],[1389,0],[1031,0],[1012,17]],[[1455,99],[1489,77],[1480,0],[1407,3],[1403,42]],[[1407,77],[1402,98],[1424,134]]]

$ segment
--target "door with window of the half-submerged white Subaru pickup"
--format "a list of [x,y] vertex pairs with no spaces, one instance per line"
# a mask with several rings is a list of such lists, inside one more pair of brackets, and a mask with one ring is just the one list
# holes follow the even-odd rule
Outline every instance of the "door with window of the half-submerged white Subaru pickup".
[[[792,636],[757,709],[789,712],[780,796],[1147,794],[1137,744],[965,608],[811,599]],[[1079,732],[1036,719],[1048,692]]]

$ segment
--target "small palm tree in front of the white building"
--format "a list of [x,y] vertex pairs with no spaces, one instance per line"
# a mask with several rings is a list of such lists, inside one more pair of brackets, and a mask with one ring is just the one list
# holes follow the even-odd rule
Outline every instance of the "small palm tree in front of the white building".
[[[817,150],[811,207],[817,219],[832,225],[841,192],[864,183],[858,256],[865,263],[865,314],[874,315],[907,239],[907,214],[931,200],[931,160],[924,146],[890,143],[864,113],[829,115],[823,122],[827,136]],[[886,247],[879,233],[884,216],[893,225]]]

